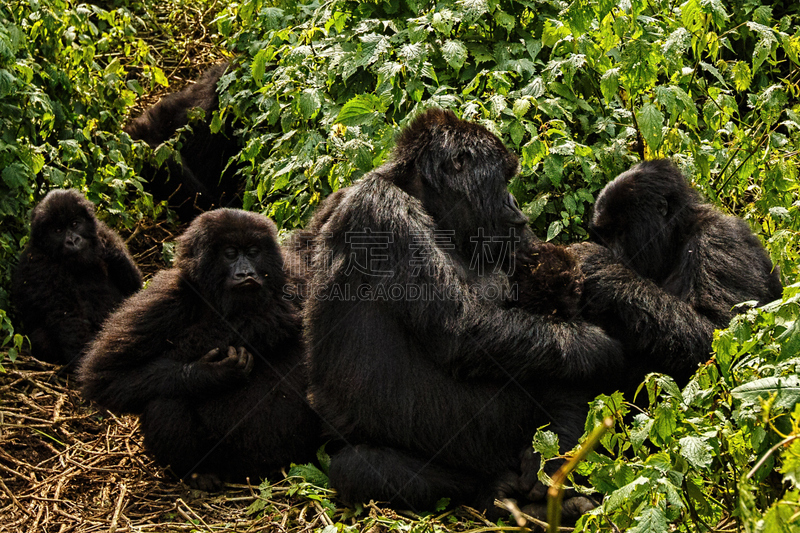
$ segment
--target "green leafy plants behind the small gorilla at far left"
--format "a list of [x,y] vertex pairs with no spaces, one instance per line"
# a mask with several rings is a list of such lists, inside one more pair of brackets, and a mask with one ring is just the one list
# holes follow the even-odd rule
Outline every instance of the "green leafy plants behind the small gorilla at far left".
[[116,222],[133,225],[147,209],[141,154],[119,136],[143,92],[124,65],[156,72],[135,22],[125,9],[60,0],[0,6],[0,341],[12,359],[23,340],[6,288],[33,205],[50,188],[77,187]]

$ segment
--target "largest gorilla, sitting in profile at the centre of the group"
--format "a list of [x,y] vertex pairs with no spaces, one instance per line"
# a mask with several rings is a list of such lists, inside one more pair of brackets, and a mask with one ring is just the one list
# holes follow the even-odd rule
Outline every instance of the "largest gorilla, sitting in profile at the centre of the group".
[[586,398],[559,388],[613,368],[619,346],[505,307],[510,244],[530,238],[506,189],[516,171],[488,130],[429,110],[312,223],[310,394],[341,442],[330,479],[343,500],[487,509],[530,488],[512,472],[537,427],[576,444]]

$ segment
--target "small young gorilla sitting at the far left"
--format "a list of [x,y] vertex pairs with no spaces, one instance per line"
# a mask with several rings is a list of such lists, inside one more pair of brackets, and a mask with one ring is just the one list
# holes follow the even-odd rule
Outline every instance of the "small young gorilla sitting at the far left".
[[71,368],[109,313],[141,287],[125,243],[78,191],[50,191],[33,209],[11,299],[34,357]]

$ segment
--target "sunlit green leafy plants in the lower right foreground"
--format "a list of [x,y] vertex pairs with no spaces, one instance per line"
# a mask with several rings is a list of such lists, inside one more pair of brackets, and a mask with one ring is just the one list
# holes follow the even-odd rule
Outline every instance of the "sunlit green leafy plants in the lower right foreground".
[[[638,394],[598,396],[587,432],[614,427],[579,465],[579,491],[603,503],[581,531],[788,531],[800,520],[800,284],[783,301],[748,309],[717,332],[714,356],[680,390],[651,374]],[[642,405],[643,402],[637,402]],[[533,446],[558,453],[540,430]],[[544,474],[540,474],[546,479]],[[630,528],[630,529],[628,529]],[[788,529],[786,529],[788,528]]]

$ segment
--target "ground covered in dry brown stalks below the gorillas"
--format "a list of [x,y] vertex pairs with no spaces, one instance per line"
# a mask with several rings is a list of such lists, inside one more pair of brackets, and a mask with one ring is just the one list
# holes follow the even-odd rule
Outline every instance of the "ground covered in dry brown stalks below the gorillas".
[[[0,372],[0,531],[520,530],[467,507],[428,516],[354,510],[300,478],[190,489],[145,453],[136,417],[88,404],[74,378],[23,354]],[[522,529],[527,531],[527,529]]]

